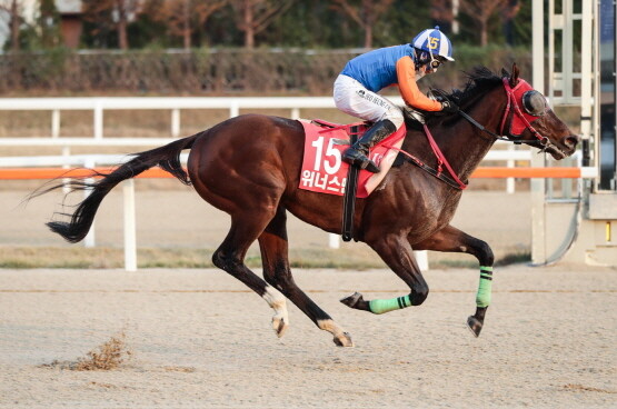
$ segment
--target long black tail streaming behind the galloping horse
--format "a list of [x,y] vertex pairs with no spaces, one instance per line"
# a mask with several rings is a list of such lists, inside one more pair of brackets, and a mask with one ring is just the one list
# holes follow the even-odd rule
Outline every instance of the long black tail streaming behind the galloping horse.
[[[180,163],[180,152],[183,149],[191,148],[195,140],[205,132],[206,131],[179,139],[160,148],[132,153],[132,156],[135,156],[133,159],[116,168],[111,173],[93,173],[92,176],[101,178],[94,182],[87,182],[83,179],[71,181],[69,183],[71,191],[89,190],[90,193],[77,206],[77,209],[72,215],[62,213],[63,216],[71,217],[70,222],[51,221],[47,223],[47,226],[51,229],[51,231],[62,236],[67,241],[73,243],[81,241],[86,235],[88,235],[88,231],[92,226],[92,221],[94,220],[94,215],[99,209],[99,205],[107,193],[109,193],[109,191],[122,180],[135,178],[145,170],[156,166],[159,166],[163,170],[173,174],[182,183],[190,184],[189,177]],[[63,184],[53,186],[44,191],[36,193],[34,196],[61,188]]]

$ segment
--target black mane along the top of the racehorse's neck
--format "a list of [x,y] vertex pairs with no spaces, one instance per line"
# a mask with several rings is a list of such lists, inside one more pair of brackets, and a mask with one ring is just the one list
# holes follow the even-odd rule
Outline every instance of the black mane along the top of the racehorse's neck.
[[[454,101],[459,107],[465,107],[469,102],[477,99],[479,96],[490,91],[498,84],[501,84],[500,76],[496,74],[488,68],[484,66],[474,67],[471,71],[464,72],[465,77],[467,77],[467,83],[462,90],[454,89],[451,92],[446,92],[444,90],[437,89],[434,90],[435,94],[444,94],[449,100]],[[501,71],[502,76],[509,76],[506,70]],[[404,110],[405,111],[405,110]],[[406,111],[405,111],[406,112]],[[442,121],[446,118],[450,118],[450,116],[444,116],[441,113],[432,113],[432,112],[425,112],[427,123],[431,123],[435,121]],[[406,122],[407,126],[411,126],[412,128],[418,128],[418,121],[410,118],[406,112]]]

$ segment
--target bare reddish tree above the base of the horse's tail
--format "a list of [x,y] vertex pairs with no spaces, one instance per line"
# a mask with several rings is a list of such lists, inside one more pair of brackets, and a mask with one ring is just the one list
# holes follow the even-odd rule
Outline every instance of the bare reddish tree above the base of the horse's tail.
[[172,36],[182,37],[185,49],[191,48],[191,33],[228,0],[166,0],[150,11],[153,20],[167,24]]

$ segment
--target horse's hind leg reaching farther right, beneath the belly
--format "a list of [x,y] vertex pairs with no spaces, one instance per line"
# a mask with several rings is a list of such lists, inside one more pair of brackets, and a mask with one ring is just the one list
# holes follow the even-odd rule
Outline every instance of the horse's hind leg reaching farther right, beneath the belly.
[[[352,347],[351,337],[345,332],[319,306],[317,306],[297,285],[291,276],[288,260],[287,241],[287,216],[279,206],[275,218],[266,230],[259,236],[259,248],[263,262],[263,277],[268,283],[279,289],[291,302],[293,302],[312,322],[321,330],[329,331],[335,337],[335,343],[339,347]],[[279,337],[289,322],[273,322]]]

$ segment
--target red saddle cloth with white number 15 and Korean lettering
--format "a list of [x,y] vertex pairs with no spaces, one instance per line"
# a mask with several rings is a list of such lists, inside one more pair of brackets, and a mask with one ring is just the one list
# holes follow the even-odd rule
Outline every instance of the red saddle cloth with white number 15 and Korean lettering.
[[[365,122],[337,124],[321,120],[300,120],[300,122],[305,128],[306,137],[299,188],[342,196],[347,184],[349,164],[341,160],[341,153],[349,147],[351,128],[358,127],[360,132],[358,137],[360,137],[369,128],[369,124]],[[371,173],[368,170],[361,170],[356,197],[368,197],[386,177],[398,154],[405,134],[406,129],[402,124],[399,130],[370,150],[370,159],[381,171]]]

